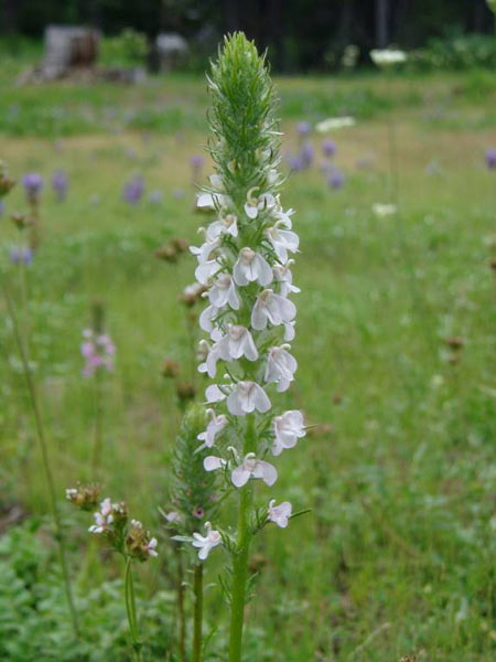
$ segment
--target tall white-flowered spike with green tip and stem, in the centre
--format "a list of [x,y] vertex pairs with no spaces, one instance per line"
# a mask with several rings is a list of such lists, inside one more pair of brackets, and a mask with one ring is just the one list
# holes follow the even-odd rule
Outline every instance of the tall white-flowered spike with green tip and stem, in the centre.
[[[209,153],[215,164],[211,186],[198,206],[216,218],[202,228],[205,242],[193,247],[207,307],[200,317],[208,340],[202,341],[200,372],[213,380],[206,388],[208,424],[198,435],[212,449],[205,471],[220,472],[226,490],[238,500],[237,530],[205,524],[192,544],[204,560],[224,546],[231,557],[226,583],[230,600],[229,662],[241,659],[251,541],[266,524],[288,525],[292,505],[277,504],[267,493],[277,479],[272,458],[305,436],[299,410],[281,412],[278,394],[294,380],[291,354],[296,308],[291,296],[292,255],[299,237],[292,210],[279,196],[280,134],[276,97],[265,58],[237,33],[225,40],[208,77],[212,99]],[[261,505],[255,485],[261,484]]]

